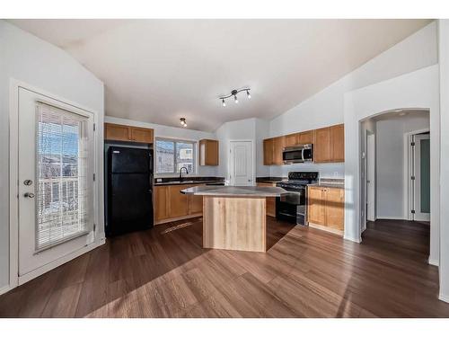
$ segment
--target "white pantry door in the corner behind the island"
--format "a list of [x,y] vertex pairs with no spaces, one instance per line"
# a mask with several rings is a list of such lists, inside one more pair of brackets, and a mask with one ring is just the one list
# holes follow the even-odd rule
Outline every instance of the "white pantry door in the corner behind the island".
[[250,186],[253,184],[252,174],[252,142],[230,142],[230,182],[233,186]]

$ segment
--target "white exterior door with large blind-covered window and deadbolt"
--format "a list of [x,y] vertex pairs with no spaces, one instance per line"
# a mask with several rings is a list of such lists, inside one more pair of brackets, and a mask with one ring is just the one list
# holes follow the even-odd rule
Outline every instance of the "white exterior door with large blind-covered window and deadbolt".
[[19,90],[19,278],[93,242],[93,116]]

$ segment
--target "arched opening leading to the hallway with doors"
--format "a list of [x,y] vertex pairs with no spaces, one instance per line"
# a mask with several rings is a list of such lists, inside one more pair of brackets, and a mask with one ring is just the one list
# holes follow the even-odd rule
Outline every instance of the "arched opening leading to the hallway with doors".
[[[419,231],[430,246],[430,114],[427,110],[384,111],[362,120],[361,233],[382,226],[396,244],[403,232]],[[415,229],[412,229],[415,228]],[[377,228],[378,230],[379,228]],[[394,241],[394,240],[393,240]]]

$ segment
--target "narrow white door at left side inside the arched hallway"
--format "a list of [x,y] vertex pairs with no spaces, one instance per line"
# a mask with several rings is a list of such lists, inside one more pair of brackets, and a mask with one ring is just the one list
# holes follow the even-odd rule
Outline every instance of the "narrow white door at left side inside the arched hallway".
[[366,218],[375,220],[375,135],[366,137]]

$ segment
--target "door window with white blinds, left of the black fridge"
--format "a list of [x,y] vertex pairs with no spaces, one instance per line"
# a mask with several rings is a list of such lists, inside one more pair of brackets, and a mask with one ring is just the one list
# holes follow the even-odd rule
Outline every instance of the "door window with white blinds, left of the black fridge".
[[89,117],[36,102],[36,251],[92,231]]

